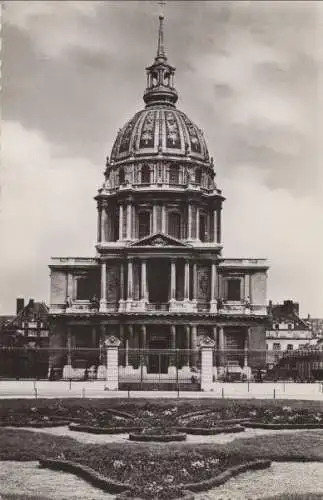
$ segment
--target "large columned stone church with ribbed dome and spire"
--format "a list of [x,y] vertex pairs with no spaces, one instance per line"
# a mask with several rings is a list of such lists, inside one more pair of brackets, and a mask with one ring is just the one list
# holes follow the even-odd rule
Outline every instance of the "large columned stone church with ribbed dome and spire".
[[202,130],[176,107],[163,16],[146,72],[145,107],[119,130],[95,198],[96,256],[50,263],[50,369],[100,376],[113,335],[120,383],[135,383],[138,367],[141,383],[170,382],[174,365],[191,382],[207,336],[215,378],[250,376],[265,365],[268,266],[222,256],[224,197]]

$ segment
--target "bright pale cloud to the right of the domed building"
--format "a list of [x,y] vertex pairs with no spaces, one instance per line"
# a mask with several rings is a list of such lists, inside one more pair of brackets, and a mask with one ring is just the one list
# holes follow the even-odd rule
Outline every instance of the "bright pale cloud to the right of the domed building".
[[254,167],[222,179],[224,256],[267,257],[268,298],[300,302],[303,314],[323,305],[323,202],[270,189]]

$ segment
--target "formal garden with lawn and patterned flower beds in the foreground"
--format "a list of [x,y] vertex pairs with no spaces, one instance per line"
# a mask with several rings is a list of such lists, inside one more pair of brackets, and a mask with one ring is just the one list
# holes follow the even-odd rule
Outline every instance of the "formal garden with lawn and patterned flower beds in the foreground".
[[[300,401],[2,400],[0,460],[38,461],[73,472],[119,498],[188,500],[242,472],[268,468],[272,461],[323,462],[322,417],[318,402]],[[120,432],[130,439],[86,444],[19,428],[63,425]],[[239,432],[260,425],[309,430],[239,439]],[[202,432],[237,432],[237,438],[225,445],[172,439]]]

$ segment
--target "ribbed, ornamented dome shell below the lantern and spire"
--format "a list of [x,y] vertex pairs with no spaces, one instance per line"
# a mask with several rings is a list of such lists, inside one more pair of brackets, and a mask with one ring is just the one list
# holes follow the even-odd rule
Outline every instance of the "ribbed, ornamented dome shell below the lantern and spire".
[[155,104],[136,113],[119,130],[111,160],[117,163],[153,155],[185,156],[209,163],[202,131],[171,104]]

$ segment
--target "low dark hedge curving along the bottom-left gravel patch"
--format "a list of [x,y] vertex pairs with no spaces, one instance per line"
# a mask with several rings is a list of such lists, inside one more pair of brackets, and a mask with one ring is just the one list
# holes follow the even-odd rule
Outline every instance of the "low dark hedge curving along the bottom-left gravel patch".
[[100,488],[108,493],[121,493],[125,490],[131,490],[128,484],[119,483],[112,479],[102,476],[95,470],[87,467],[85,465],[80,465],[69,460],[54,460],[49,458],[39,459],[39,465],[41,467],[59,470],[63,472],[70,472],[76,476],[88,481],[93,486]]

